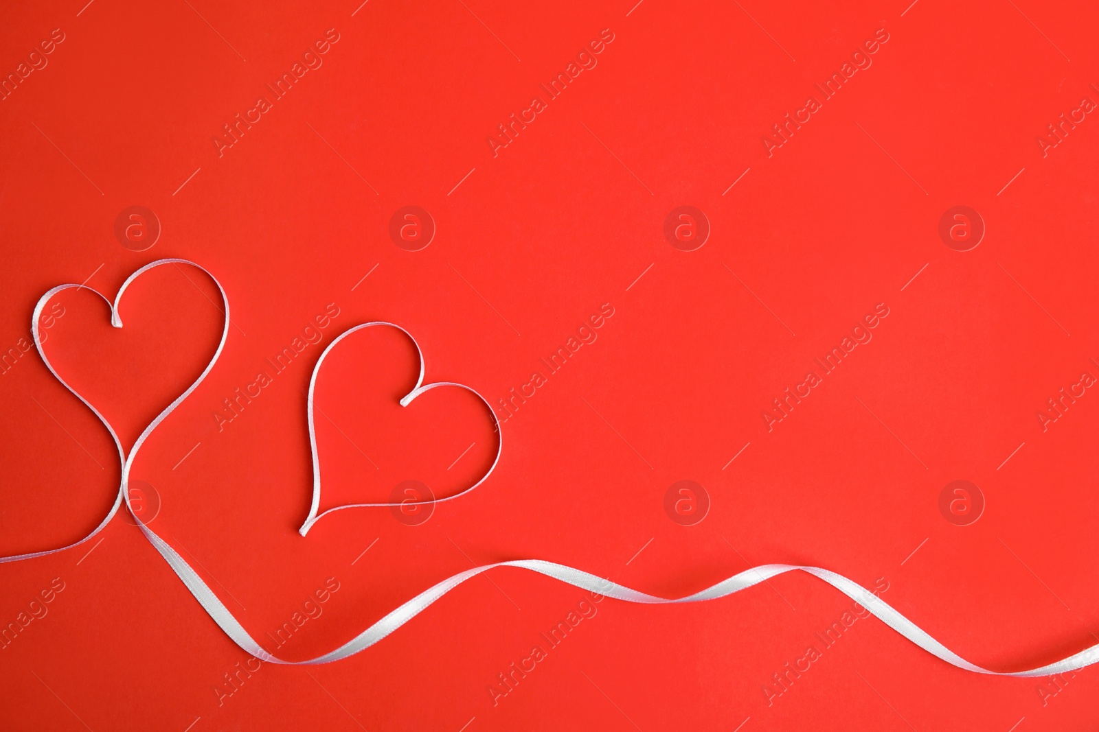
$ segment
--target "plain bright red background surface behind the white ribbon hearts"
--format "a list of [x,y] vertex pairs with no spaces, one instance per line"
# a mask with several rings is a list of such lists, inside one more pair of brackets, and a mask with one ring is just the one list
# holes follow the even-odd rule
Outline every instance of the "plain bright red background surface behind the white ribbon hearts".
[[[474,563],[518,558],[667,596],[770,562],[864,586],[885,577],[882,599],[1000,671],[1096,642],[1099,396],[1088,390],[1046,431],[1035,416],[1081,372],[1099,375],[1099,122],[1087,115],[1045,157],[1036,144],[1081,98],[1099,101],[1095,9],[632,4],[9,3],[2,74],[54,29],[65,41],[0,102],[3,349],[29,338],[34,303],[56,284],[91,275],[113,297],[162,257],[219,278],[225,351],[132,477],[160,497],[152,528],[262,642],[335,578],[287,658],[344,643]],[[768,157],[771,125],[881,27],[873,65]],[[340,40],[323,66],[219,157],[222,125],[329,29]],[[487,136],[603,29],[614,40],[598,65],[493,157]],[[663,235],[685,204],[712,227],[690,252]],[[937,234],[958,204],[987,226],[967,252]],[[163,227],[146,251],[115,239],[131,205]],[[436,224],[421,251],[389,238],[404,205]],[[192,268],[140,279],[122,330],[89,293],[58,302],[47,352],[126,440],[201,371],[220,333],[217,291]],[[324,340],[219,431],[222,399],[330,303]],[[311,496],[303,391],[336,334],[399,323],[426,381],[495,404],[603,303],[614,315],[598,340],[502,426],[482,486],[420,526],[354,509],[298,536]],[[889,316],[873,340],[768,432],[761,412],[878,303]],[[446,495],[482,472],[491,425],[471,398],[393,406],[414,381],[407,339],[373,334],[337,354],[318,391],[331,417],[318,419],[322,509],[386,500],[410,478]],[[5,364],[0,393],[0,552],[85,536],[116,491],[108,435],[33,350]],[[663,507],[685,478],[712,503],[691,527]],[[939,511],[955,480],[985,496],[976,523]],[[246,654],[123,517],[77,549],[0,566],[0,622],[55,577],[65,589],[48,615],[0,651],[5,730],[1099,721],[1092,669],[1051,696],[1047,679],[958,671],[873,619],[768,705],[771,675],[851,606],[800,574],[690,607],[606,600],[496,705],[489,685],[580,590],[493,571],[349,660],[264,664],[220,696]]]

